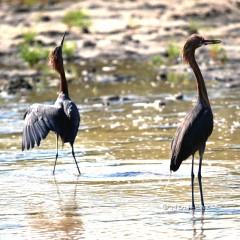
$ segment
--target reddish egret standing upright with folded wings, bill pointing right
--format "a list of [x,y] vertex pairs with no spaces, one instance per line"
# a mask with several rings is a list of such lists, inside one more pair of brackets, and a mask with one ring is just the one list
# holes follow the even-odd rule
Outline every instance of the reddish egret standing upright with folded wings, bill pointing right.
[[207,89],[203,80],[203,76],[195,60],[195,50],[201,46],[208,44],[220,43],[220,40],[206,40],[199,35],[190,36],[183,48],[183,58],[189,63],[197,79],[197,104],[186,115],[180,126],[178,127],[175,137],[172,141],[171,164],[170,170],[177,171],[183,160],[192,155],[192,209],[195,209],[194,204],[194,154],[199,152],[199,169],[198,183],[201,195],[201,205],[204,209],[201,168],[203,154],[206,146],[206,141],[213,130],[213,113],[208,99]]

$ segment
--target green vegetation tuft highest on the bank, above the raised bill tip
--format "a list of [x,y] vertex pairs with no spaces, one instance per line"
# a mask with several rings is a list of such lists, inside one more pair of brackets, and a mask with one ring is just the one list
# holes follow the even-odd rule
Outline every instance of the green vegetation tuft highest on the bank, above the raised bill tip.
[[83,10],[69,11],[63,17],[63,22],[69,27],[88,28],[91,25],[90,17]]

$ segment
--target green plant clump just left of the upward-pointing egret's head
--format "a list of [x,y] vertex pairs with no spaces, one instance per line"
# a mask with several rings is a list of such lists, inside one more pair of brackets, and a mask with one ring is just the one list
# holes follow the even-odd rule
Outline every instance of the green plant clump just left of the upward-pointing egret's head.
[[20,56],[30,66],[33,66],[39,63],[40,60],[47,58],[48,51],[39,45],[31,47],[28,44],[22,44],[20,46]]

